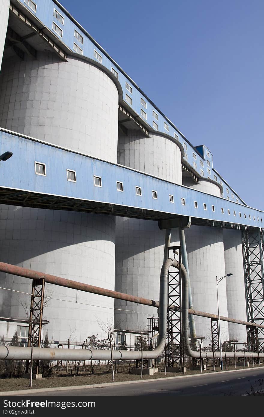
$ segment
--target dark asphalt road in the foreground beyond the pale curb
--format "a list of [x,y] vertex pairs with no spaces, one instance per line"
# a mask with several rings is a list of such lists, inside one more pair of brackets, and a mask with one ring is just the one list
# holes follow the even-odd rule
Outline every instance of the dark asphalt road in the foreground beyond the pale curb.
[[[151,380],[148,382],[128,383],[110,387],[65,389],[63,391],[43,391],[31,393],[31,396],[151,396],[151,395],[245,395],[251,386],[259,389],[259,379],[263,379],[264,368],[242,369],[235,372],[203,374],[194,377],[176,377],[173,379]],[[27,395],[28,396],[28,395]]]

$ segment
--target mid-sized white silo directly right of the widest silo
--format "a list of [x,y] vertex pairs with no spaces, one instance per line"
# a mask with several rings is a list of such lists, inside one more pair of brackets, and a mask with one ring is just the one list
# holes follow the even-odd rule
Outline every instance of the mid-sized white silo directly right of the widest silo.
[[[118,163],[182,183],[180,145],[162,133],[146,137],[131,130],[127,136],[120,134]],[[173,231],[171,242],[179,244],[177,231]],[[159,230],[158,222],[117,218],[116,291],[158,299],[164,243],[165,231]],[[153,307],[121,300],[116,300],[115,309],[115,326],[130,331],[146,329],[147,317],[156,315]]]

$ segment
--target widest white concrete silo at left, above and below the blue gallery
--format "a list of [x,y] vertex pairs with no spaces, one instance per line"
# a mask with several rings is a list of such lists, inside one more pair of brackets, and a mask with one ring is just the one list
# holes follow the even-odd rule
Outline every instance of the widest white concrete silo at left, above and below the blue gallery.
[[[7,61],[1,71],[0,125],[116,162],[117,86],[98,67],[67,59],[39,53],[38,60]],[[78,167],[69,168],[78,181]],[[14,206],[2,206],[0,216],[2,261],[114,289],[114,217]],[[30,285],[27,279],[1,274],[1,286],[30,292]],[[50,338],[84,340],[102,333],[98,320],[113,318],[113,299],[49,289],[52,299],[43,318],[50,322],[44,327]],[[25,317],[23,297],[3,291],[0,315]]]

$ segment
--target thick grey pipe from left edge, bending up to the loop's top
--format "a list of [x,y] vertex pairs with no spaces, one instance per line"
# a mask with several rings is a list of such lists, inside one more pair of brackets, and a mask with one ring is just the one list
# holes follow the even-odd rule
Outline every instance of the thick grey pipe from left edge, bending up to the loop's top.
[[[154,350],[143,351],[143,359],[155,359],[160,356],[166,344],[167,332],[167,281],[171,266],[179,269],[179,262],[167,259],[161,268],[160,277],[160,307],[159,307],[159,334],[157,347]],[[60,278],[61,279],[61,278]],[[64,280],[67,281],[67,280]],[[0,359],[30,359],[31,347],[0,346]],[[141,359],[141,351],[114,350],[113,359]],[[33,348],[33,359],[47,360],[111,360],[111,351],[102,349],[50,349]]]

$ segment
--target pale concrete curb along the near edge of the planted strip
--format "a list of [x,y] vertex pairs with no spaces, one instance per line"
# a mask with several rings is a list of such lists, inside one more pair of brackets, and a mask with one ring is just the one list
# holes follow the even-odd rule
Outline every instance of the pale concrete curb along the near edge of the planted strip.
[[[262,368],[263,365],[259,368]],[[226,374],[226,373],[230,373],[230,372],[239,372],[239,371],[251,371],[251,370],[256,370],[255,368],[243,368],[243,369],[231,369],[230,371],[216,371],[217,374]],[[176,379],[176,378],[192,378],[192,377],[206,377],[208,375],[212,375],[215,374],[215,372],[213,371],[210,374],[194,374],[194,375],[182,375],[182,376],[177,376],[177,377],[164,377],[164,378],[155,378],[155,379],[143,379],[143,380],[139,380],[139,381],[121,381],[121,382],[106,382],[103,384],[92,384],[92,385],[75,385],[75,386],[70,386],[70,387],[51,387],[51,388],[35,388],[35,389],[20,389],[19,391],[5,391],[5,392],[0,392],[0,397],[3,396],[9,396],[9,395],[23,395],[23,394],[33,394],[33,393],[38,393],[38,392],[53,392],[53,391],[65,391],[65,389],[68,390],[74,390],[74,389],[84,389],[84,388],[98,388],[98,387],[110,387],[111,385],[125,385],[125,384],[138,384],[138,383],[143,383],[143,382],[153,382],[153,381],[164,381],[166,379]]]

